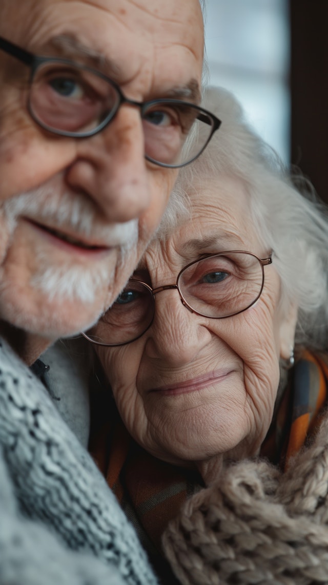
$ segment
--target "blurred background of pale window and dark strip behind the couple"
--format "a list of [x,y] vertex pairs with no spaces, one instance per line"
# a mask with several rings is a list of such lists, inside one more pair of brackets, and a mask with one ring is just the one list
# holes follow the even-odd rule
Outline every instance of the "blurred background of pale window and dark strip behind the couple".
[[328,0],[207,0],[210,83],[328,202]]

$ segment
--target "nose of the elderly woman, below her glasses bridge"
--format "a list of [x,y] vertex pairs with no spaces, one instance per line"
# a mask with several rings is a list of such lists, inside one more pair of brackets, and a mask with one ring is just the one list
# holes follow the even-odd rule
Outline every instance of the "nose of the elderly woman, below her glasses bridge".
[[146,355],[172,367],[191,363],[211,341],[211,332],[200,316],[183,306],[177,290],[156,294],[155,305],[152,326],[145,333]]

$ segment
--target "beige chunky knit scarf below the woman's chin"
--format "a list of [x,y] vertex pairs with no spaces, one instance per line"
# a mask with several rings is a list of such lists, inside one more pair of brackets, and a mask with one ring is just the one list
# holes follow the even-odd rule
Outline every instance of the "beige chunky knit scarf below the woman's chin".
[[328,414],[285,473],[264,460],[226,466],[163,548],[183,585],[328,583]]

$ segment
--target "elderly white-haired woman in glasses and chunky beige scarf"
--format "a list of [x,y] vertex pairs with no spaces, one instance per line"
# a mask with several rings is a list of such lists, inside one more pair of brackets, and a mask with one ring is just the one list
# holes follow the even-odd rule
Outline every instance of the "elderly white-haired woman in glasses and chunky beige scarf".
[[87,333],[134,439],[98,460],[155,541],[177,515],[181,583],[328,583],[327,212],[230,94],[206,107],[220,132]]

